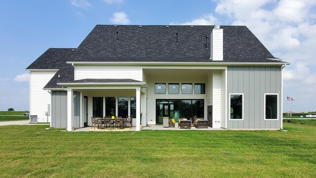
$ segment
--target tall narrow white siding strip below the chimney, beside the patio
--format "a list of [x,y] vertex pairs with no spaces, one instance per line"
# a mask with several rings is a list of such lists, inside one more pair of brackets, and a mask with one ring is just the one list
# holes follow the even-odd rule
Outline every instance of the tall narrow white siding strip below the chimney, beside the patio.
[[213,72],[213,128],[220,128],[221,121],[221,88],[222,76],[220,71]]

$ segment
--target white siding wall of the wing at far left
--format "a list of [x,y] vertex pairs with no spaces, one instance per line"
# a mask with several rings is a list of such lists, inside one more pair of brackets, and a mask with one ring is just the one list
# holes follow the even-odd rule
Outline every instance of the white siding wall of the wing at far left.
[[47,115],[48,104],[51,102],[50,93],[43,90],[56,71],[31,71],[30,75],[30,115],[37,115],[38,122],[50,122]]

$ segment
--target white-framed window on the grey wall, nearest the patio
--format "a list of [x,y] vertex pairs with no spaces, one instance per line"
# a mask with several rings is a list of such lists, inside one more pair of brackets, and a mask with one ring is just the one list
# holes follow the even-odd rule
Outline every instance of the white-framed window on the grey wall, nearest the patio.
[[243,94],[230,94],[230,119],[243,120]]

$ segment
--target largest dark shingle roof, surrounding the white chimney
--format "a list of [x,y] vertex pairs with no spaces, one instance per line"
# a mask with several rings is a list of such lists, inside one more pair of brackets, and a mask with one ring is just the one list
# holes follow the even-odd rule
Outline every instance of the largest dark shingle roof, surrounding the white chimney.
[[[216,62],[210,57],[214,26],[96,25],[76,50],[75,62]],[[246,26],[221,26],[224,61],[275,58]],[[178,35],[177,35],[178,34]],[[206,35],[209,38],[206,39]],[[208,48],[206,48],[206,40]],[[273,62],[273,61],[272,61]]]

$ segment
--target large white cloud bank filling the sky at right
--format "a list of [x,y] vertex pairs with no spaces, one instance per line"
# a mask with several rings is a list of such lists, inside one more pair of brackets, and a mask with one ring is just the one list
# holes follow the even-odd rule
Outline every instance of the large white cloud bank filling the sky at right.
[[232,25],[246,25],[274,56],[291,62],[283,69],[283,94],[298,103],[293,111],[315,110],[315,8],[315,0],[219,0],[215,8]]

